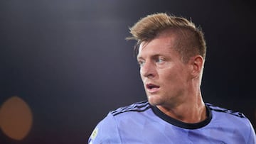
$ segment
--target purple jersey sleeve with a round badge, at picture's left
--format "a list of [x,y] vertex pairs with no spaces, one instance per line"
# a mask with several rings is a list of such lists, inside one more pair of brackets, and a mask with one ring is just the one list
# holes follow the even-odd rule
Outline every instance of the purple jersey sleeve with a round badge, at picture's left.
[[108,115],[102,121],[100,121],[100,123],[97,124],[88,140],[88,144],[101,143],[122,143],[117,128],[117,123],[111,113],[108,113]]

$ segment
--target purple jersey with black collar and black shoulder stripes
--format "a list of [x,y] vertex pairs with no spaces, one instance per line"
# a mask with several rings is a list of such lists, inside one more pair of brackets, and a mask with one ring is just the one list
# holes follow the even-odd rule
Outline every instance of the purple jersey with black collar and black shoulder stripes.
[[206,104],[200,123],[183,123],[162,113],[148,101],[111,111],[97,124],[89,144],[247,143],[255,144],[255,131],[242,114]]

